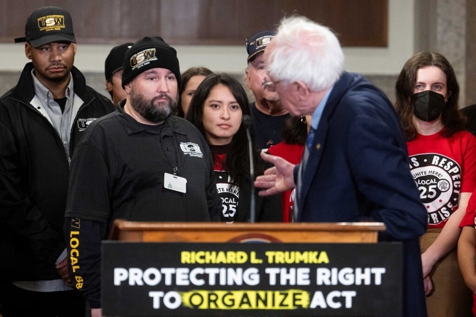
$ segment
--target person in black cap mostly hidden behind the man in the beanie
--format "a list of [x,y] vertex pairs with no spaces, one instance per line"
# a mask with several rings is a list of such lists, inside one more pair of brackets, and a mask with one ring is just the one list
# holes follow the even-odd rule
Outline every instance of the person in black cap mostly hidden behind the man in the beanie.
[[122,64],[126,51],[132,46],[132,42],[114,46],[104,62],[104,74],[106,76],[106,89],[108,89],[114,105],[126,98],[126,90],[122,87]]

